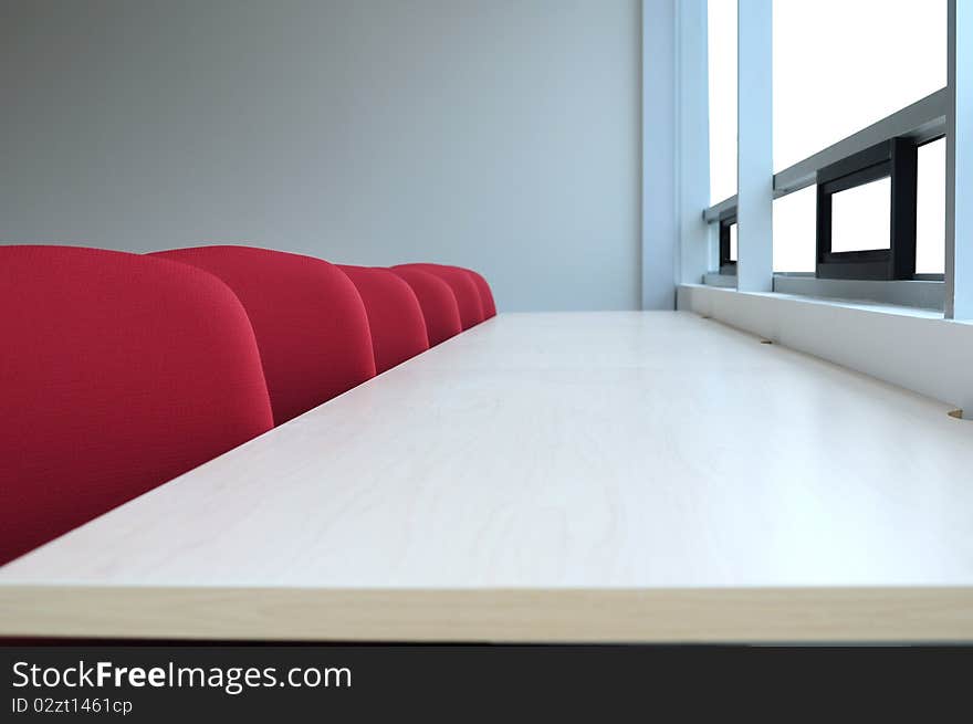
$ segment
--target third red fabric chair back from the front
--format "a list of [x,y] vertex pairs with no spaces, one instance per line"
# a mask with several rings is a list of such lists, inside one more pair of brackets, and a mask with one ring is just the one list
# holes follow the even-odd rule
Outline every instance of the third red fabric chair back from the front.
[[372,329],[375,371],[385,370],[429,349],[426,319],[408,283],[387,269],[339,265],[362,295]]

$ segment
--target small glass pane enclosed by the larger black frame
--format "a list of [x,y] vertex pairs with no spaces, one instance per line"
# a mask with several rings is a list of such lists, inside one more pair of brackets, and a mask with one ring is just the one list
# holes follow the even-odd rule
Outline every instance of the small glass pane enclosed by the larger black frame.
[[892,179],[886,177],[831,196],[831,251],[891,245]]

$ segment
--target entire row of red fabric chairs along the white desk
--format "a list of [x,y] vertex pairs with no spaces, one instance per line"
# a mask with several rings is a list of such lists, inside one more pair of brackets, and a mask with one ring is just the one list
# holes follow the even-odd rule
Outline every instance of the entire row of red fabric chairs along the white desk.
[[478,273],[0,246],[0,564],[496,314]]

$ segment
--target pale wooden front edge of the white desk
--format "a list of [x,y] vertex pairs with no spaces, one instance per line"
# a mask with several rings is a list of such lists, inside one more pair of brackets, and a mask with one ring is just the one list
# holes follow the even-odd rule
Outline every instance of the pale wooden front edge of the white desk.
[[0,636],[252,641],[970,642],[973,586],[321,589],[0,585]]

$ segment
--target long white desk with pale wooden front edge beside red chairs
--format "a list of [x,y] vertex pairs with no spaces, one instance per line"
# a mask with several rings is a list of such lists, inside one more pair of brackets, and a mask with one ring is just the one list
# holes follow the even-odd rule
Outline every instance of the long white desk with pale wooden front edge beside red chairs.
[[0,636],[973,640],[973,422],[688,313],[504,314],[0,568]]

